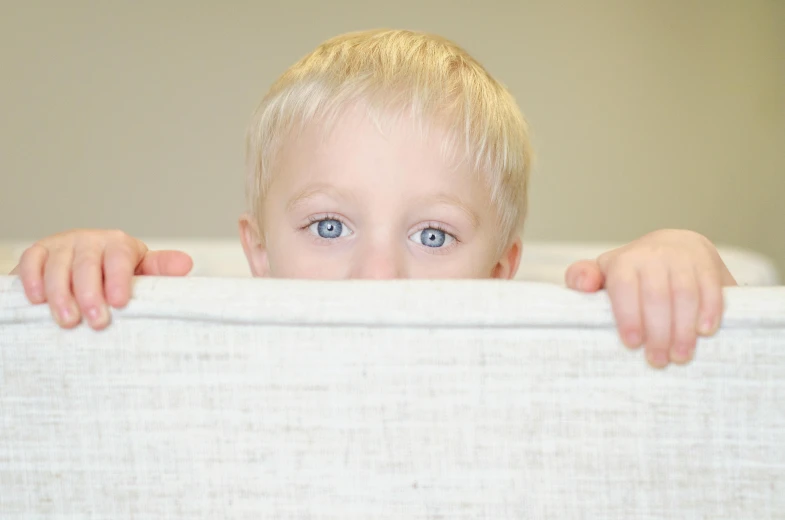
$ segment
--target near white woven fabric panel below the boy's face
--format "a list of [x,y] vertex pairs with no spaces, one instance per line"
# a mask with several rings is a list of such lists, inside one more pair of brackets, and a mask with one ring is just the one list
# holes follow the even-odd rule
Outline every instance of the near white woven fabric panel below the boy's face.
[[785,518],[785,287],[697,359],[524,282],[137,280],[101,333],[0,277],[0,518]]

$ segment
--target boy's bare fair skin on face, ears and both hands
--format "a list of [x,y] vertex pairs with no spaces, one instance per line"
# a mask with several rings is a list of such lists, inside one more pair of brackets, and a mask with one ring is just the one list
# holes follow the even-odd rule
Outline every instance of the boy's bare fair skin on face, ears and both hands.
[[[264,214],[240,219],[254,276],[312,279],[514,277],[519,239],[498,253],[497,215],[487,187],[423,140],[405,120],[380,132],[350,111],[329,134],[309,125],[275,162]],[[134,275],[183,276],[191,258],[149,251],[118,231],[76,230],[23,254],[18,274],[32,303],[48,302],[64,328],[84,318],[95,329],[109,307],[131,298]],[[722,287],[735,281],[716,248],[697,233],[662,230],[595,260],[570,266],[568,287],[611,300],[619,335],[645,346],[655,367],[692,359],[700,335],[714,334]]]

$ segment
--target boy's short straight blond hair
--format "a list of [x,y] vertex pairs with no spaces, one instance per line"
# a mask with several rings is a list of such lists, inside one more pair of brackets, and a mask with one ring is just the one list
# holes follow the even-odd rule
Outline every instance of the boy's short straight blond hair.
[[386,116],[398,109],[426,124],[446,123],[443,151],[468,161],[485,177],[498,210],[501,241],[506,245],[521,233],[533,154],[512,95],[453,42],[383,29],[322,43],[272,85],[254,112],[247,136],[246,196],[260,232],[282,140],[297,125],[316,119],[329,124],[355,102]]

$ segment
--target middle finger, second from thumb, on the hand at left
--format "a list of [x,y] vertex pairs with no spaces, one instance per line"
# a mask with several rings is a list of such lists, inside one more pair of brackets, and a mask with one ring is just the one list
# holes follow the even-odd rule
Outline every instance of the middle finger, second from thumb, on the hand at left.
[[80,313],[95,330],[109,324],[104,300],[103,244],[85,241],[77,244],[73,264],[73,293]]

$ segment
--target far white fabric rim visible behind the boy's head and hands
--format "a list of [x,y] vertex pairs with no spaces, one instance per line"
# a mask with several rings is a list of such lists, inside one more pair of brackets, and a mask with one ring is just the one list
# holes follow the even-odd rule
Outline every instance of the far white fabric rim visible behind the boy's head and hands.
[[[8,273],[20,255],[33,241],[0,242],[0,274]],[[196,276],[248,277],[250,270],[239,239],[188,240],[152,239],[145,243],[151,249],[186,251],[194,259],[192,274]],[[541,242],[527,240],[516,276],[519,280],[563,284],[564,272],[576,260],[596,258],[620,244],[581,242]],[[736,277],[739,285],[768,286],[780,283],[780,274],[771,259],[744,249],[720,247],[720,255]]]

